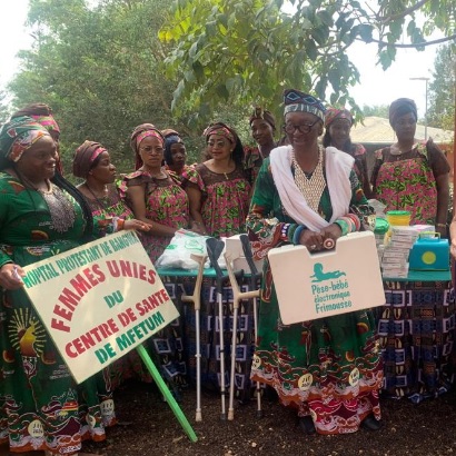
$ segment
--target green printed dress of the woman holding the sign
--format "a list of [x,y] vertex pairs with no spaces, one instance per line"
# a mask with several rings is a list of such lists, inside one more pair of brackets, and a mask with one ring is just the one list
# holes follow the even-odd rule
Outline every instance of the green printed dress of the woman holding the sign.
[[[40,192],[0,172],[0,266],[20,266],[78,247],[85,220],[80,206],[65,232],[52,226]],[[72,454],[88,438],[106,438],[115,424],[113,402],[102,373],[77,385],[23,289],[0,289],[0,444],[14,453]]]

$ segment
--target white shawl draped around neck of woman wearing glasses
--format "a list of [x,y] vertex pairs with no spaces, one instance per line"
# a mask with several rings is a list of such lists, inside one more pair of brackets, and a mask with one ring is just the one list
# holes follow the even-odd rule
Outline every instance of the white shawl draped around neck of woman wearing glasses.
[[277,147],[270,152],[270,168],[280,201],[294,220],[313,231],[319,231],[334,220],[345,216],[349,210],[351,200],[349,176],[355,159],[335,147],[326,148],[326,182],[333,206],[333,217],[328,222],[308,207],[306,199],[296,186],[291,172],[291,146]]

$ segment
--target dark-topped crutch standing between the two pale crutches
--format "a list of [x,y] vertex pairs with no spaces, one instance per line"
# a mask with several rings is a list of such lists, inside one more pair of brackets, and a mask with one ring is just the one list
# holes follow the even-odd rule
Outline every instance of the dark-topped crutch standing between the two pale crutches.
[[207,255],[210,264],[217,275],[217,303],[218,303],[218,316],[219,316],[219,344],[220,344],[220,398],[221,398],[221,415],[220,419],[227,419],[227,412],[225,406],[225,340],[224,340],[224,274],[217,260],[224,250],[225,244],[222,240],[216,238],[209,238],[206,240]]

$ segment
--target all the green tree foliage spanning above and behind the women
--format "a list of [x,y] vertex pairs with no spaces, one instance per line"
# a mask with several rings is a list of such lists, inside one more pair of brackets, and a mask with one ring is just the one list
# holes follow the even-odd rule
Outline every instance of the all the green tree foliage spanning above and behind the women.
[[179,130],[194,161],[209,121],[235,126],[246,140],[252,106],[280,119],[288,87],[359,118],[350,97],[359,73],[346,54],[353,42],[377,42],[387,68],[397,42],[423,48],[435,29],[454,33],[455,8],[454,0],[30,0],[36,41],[9,89],[17,108],[52,107],[67,170],[85,139],[131,170],[128,139],[142,122]]

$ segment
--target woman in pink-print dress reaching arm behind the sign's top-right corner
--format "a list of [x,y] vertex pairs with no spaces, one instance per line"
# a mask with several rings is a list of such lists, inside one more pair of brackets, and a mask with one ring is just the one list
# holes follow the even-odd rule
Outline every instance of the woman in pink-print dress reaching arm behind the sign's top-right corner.
[[165,138],[151,123],[138,126],[130,138],[136,171],[123,177],[120,197],[135,217],[150,230],[141,241],[152,262],[163,252],[179,228],[188,228],[187,194],[162,167]]

